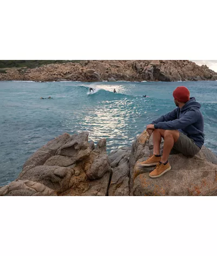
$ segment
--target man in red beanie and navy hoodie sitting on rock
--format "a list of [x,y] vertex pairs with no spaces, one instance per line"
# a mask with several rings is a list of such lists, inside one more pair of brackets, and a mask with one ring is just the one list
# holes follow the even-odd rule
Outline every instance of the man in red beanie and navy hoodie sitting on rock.
[[[153,155],[139,166],[156,166],[149,174],[150,178],[158,178],[171,169],[168,162],[169,154],[182,153],[194,156],[199,153],[204,143],[203,115],[200,103],[195,97],[190,97],[189,90],[180,86],[174,92],[174,102],[177,108],[162,115],[147,125],[146,131],[153,132]],[[163,155],[159,154],[161,138],[164,139]]]

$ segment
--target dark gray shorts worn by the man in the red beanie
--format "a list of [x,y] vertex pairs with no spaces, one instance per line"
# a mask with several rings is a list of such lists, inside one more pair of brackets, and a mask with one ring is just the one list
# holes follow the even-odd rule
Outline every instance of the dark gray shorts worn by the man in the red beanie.
[[194,143],[193,139],[190,139],[184,133],[180,132],[178,141],[174,143],[173,149],[170,155],[182,153],[186,156],[195,156],[199,153],[200,148]]

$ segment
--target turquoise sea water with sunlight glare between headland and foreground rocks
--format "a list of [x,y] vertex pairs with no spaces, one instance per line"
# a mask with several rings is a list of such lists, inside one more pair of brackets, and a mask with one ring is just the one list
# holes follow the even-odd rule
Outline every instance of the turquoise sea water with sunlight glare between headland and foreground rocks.
[[[177,86],[188,87],[201,103],[205,145],[217,154],[217,82],[1,81],[0,186],[16,179],[28,157],[63,132],[88,131],[95,142],[106,138],[108,152],[130,146],[147,124],[175,108]],[[88,87],[95,93],[88,95]],[[54,99],[40,100],[48,96]]]

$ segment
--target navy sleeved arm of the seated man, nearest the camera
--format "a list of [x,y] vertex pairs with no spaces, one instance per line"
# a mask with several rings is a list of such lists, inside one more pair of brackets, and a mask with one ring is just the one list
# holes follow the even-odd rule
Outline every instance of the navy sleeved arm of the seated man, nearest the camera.
[[184,129],[188,125],[196,123],[198,116],[194,110],[186,112],[180,119],[172,121],[159,122],[154,125],[155,129],[178,130]]

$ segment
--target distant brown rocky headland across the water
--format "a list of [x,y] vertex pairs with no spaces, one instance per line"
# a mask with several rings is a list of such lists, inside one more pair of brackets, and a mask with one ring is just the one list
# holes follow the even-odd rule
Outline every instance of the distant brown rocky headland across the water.
[[37,68],[9,68],[2,81],[201,81],[217,80],[207,65],[189,60],[81,60]]

